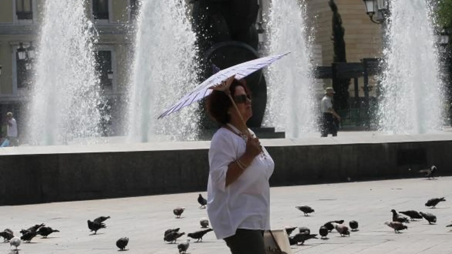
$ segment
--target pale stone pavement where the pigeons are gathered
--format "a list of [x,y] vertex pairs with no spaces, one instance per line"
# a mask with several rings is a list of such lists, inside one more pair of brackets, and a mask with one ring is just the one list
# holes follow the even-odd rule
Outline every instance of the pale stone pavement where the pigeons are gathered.
[[[350,237],[332,232],[328,240],[313,239],[304,246],[294,246],[293,253],[303,254],[447,254],[452,253],[452,232],[445,226],[452,220],[452,177],[437,180],[405,179],[371,182],[351,182],[327,185],[305,185],[272,188],[271,222],[274,229],[287,225],[307,226],[311,232],[329,220],[344,219],[359,222],[360,231]],[[205,193],[203,193],[205,195]],[[424,203],[433,197],[446,197],[436,209]],[[48,239],[36,237],[32,243],[23,243],[20,254],[107,254],[117,253],[115,242],[128,236],[128,254],[177,253],[174,244],[163,242],[167,228],[180,227],[186,233],[199,230],[199,219],[207,217],[196,201],[197,193],[170,194],[127,199],[90,200],[67,203],[0,207],[0,227],[11,228],[19,234],[21,228],[45,223],[59,229]],[[310,205],[312,216],[304,217],[294,207]],[[181,219],[172,210],[185,206]],[[426,221],[408,224],[408,230],[395,234],[383,223],[391,220],[390,210],[432,212],[438,217],[437,225]],[[100,215],[110,215],[108,228],[98,235],[89,235],[86,221]],[[179,242],[185,240],[180,238]],[[0,244],[0,253],[8,253],[9,244]],[[190,254],[228,254],[226,245],[208,233],[202,243],[192,243]]]

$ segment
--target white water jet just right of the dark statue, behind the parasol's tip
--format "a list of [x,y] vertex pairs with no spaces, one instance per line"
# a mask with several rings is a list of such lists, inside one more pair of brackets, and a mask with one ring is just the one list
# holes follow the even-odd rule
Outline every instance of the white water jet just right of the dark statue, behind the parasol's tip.
[[311,76],[311,41],[306,25],[306,3],[272,1],[268,14],[270,55],[291,51],[268,68],[268,110],[265,125],[299,138],[315,131],[314,79]]

